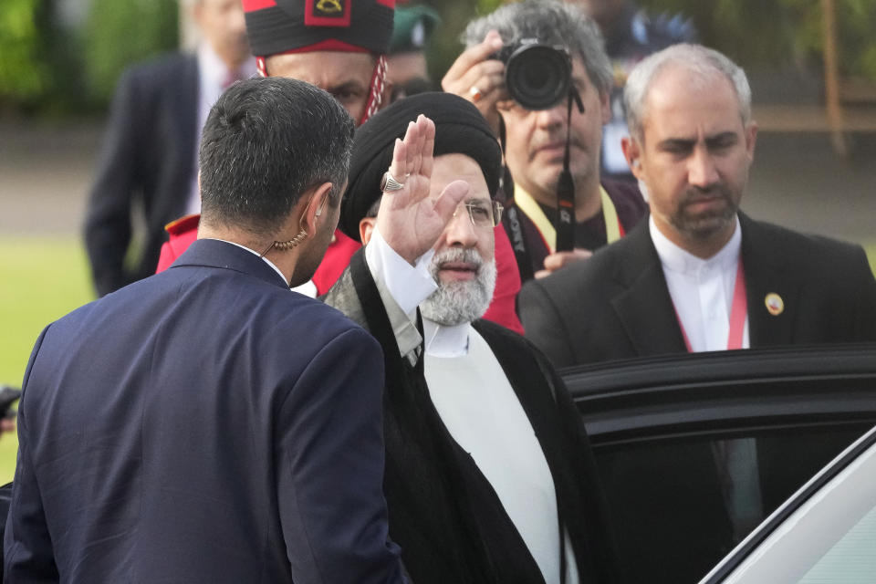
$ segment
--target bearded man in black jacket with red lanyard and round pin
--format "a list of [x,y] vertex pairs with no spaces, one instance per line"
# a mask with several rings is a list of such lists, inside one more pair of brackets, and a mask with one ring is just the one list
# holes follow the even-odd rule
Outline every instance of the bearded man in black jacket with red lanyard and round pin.
[[677,45],[633,70],[625,100],[624,153],[650,221],[521,292],[527,337],[554,365],[876,340],[876,281],[860,246],[738,211],[757,133],[741,68]]

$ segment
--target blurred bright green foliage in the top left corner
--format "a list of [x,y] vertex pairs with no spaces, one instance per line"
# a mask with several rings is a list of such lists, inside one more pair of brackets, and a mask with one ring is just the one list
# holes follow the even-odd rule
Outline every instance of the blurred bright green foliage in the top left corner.
[[0,108],[40,98],[50,87],[40,55],[43,38],[37,22],[40,0],[0,3]]

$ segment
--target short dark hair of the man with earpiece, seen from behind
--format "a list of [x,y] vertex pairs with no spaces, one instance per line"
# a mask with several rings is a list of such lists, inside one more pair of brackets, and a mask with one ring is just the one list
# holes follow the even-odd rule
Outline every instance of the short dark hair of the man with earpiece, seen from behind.
[[332,183],[330,202],[338,204],[353,132],[347,110],[304,81],[235,83],[203,126],[203,221],[270,236],[310,187]]

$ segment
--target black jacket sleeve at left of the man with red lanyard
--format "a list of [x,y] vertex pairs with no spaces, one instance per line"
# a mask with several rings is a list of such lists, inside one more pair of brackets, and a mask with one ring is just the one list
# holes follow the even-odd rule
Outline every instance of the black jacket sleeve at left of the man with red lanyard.
[[556,368],[575,364],[565,320],[553,298],[538,280],[529,280],[517,296],[517,311],[527,339],[540,349]]

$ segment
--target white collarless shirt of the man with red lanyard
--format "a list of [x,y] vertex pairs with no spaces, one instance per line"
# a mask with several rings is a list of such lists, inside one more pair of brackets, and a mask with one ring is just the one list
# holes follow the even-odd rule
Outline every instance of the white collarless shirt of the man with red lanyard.
[[[660,233],[654,218],[649,218],[649,230],[691,350],[724,350],[730,333],[730,313],[736,269],[742,247],[739,218],[724,247],[708,259],[684,251]],[[742,336],[743,349],[749,348],[748,315]]]

